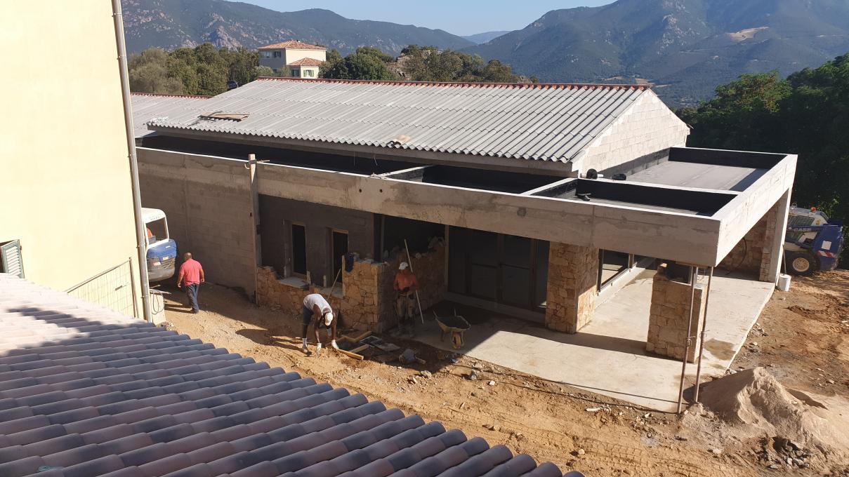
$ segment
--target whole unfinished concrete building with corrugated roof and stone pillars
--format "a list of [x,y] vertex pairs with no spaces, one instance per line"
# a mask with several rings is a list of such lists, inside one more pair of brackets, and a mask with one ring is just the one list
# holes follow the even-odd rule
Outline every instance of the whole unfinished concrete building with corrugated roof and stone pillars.
[[665,263],[640,333],[680,357],[682,266],[779,272],[796,156],[687,148],[649,87],[264,78],[163,108],[138,151],[145,205],[213,281],[293,316],[341,282],[346,324],[394,326],[405,239],[425,309],[568,334]]

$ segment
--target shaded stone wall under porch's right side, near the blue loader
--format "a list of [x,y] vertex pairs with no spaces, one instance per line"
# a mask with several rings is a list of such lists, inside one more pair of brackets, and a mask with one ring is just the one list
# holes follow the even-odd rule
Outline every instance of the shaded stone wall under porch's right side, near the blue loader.
[[751,227],[743,239],[734,245],[734,249],[728,252],[717,268],[757,273],[759,280],[766,281],[778,218],[779,204],[776,203],[754,227]]

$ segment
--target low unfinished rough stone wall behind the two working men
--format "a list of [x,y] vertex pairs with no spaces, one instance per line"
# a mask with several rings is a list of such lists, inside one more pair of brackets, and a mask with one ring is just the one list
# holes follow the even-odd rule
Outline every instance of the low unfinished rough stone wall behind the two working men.
[[[351,272],[343,269],[344,286],[336,284],[330,306],[342,311],[342,326],[382,332],[396,325],[394,310],[395,292],[392,282],[398,264],[406,256],[388,262],[355,259]],[[445,247],[413,256],[413,269],[419,278],[419,298],[422,310],[439,303],[447,288],[445,283]],[[308,286],[299,278],[279,278],[273,267],[257,270],[257,297],[261,306],[280,310],[292,319],[301,317],[304,297],[311,293],[322,293],[327,289]]]

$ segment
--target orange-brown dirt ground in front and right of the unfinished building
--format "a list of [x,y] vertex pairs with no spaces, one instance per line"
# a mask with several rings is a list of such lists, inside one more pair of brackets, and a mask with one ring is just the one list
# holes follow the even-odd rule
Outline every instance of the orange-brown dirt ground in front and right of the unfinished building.
[[[427,365],[361,362],[328,351],[305,356],[300,317],[257,308],[212,284],[200,290],[202,311],[192,315],[184,296],[167,290],[174,295],[166,301],[166,319],[181,333],[439,420],[563,471],[617,477],[849,476],[846,468],[838,469],[845,463],[827,461],[812,461],[810,469],[767,469],[760,440],[740,439],[718,421],[638,409],[416,342],[391,339],[416,350]],[[795,389],[849,395],[847,320],[849,272],[796,278],[790,292],[773,295],[733,368],[765,366]],[[481,368],[478,380],[467,379],[473,366]]]

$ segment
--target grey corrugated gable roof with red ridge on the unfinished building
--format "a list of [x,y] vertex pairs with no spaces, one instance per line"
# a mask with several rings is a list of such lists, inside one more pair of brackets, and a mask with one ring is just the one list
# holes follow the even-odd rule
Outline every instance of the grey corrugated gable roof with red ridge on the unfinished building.
[[392,149],[568,161],[648,87],[261,78],[151,125]]

